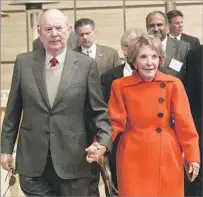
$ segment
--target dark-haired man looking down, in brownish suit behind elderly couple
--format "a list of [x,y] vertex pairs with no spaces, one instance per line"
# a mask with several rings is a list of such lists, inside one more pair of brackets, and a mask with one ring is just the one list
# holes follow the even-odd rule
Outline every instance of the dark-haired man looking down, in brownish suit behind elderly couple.
[[[121,64],[118,52],[110,47],[102,46],[95,43],[95,23],[89,18],[81,18],[75,22],[75,32],[78,37],[79,47],[74,51],[88,55],[95,59],[100,75],[110,68],[114,68]],[[92,116],[89,111],[87,117]],[[88,126],[88,130],[95,132],[92,124]],[[92,141],[92,139],[90,139]],[[91,164],[91,177],[90,177],[90,195],[99,196],[99,173],[100,167],[97,163]]]

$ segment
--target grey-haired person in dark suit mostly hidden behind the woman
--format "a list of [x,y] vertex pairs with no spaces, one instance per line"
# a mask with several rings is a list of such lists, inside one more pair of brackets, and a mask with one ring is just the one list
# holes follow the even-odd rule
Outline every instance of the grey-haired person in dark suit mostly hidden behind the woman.
[[[125,58],[127,58],[128,46],[140,33],[141,31],[138,29],[129,29],[126,32],[124,32],[123,36],[121,37],[121,49],[123,51]],[[132,66],[130,66],[126,61],[115,68],[111,68],[110,70],[106,71],[101,75],[102,92],[106,103],[108,103],[110,98],[111,85],[113,81],[121,77],[130,76],[132,72],[133,72]],[[114,141],[112,151],[109,154],[109,164],[110,164],[110,169],[112,174],[112,181],[116,189],[118,188],[117,176],[116,176],[116,153],[117,153],[117,146],[118,146],[119,139],[120,139],[120,135]],[[113,192],[115,193],[115,191]]]

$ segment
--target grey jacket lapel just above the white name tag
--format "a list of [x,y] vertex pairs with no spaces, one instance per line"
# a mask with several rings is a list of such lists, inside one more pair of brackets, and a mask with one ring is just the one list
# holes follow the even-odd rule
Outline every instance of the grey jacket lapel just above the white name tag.
[[166,54],[167,54],[167,58],[166,58],[165,66],[168,67],[171,59],[173,57],[176,57],[176,55],[175,55],[176,54],[176,45],[173,42],[172,38],[170,38],[170,37],[167,38]]

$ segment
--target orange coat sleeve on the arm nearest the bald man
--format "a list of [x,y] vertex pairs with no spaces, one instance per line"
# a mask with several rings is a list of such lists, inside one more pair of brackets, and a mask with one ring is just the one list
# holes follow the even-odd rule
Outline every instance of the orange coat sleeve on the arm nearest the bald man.
[[120,87],[120,80],[115,80],[111,88],[111,96],[109,100],[109,117],[113,127],[113,141],[117,135],[126,128],[127,113]]

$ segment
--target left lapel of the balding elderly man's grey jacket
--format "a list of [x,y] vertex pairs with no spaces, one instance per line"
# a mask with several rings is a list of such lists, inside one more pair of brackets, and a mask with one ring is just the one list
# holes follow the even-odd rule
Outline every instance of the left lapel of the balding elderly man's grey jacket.
[[32,70],[35,76],[36,84],[39,88],[40,94],[46,103],[46,105],[51,108],[45,83],[45,50],[36,50],[36,55],[34,56],[34,62],[32,64]]

